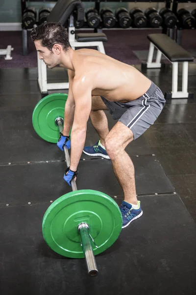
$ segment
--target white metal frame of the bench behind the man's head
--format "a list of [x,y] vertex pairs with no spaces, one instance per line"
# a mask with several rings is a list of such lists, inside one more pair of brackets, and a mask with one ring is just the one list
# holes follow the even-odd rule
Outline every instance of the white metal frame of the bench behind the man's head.
[[[73,49],[75,47],[90,47],[96,46],[98,51],[105,54],[105,49],[102,41],[90,41],[90,42],[78,42],[75,39],[75,27],[73,25],[73,16],[70,16],[70,26],[69,26],[69,42]],[[69,89],[69,82],[67,83],[48,83],[47,82],[47,65],[43,60],[39,59],[39,54],[37,54],[37,64],[38,64],[38,85],[41,93],[47,93],[48,90],[52,89]]]

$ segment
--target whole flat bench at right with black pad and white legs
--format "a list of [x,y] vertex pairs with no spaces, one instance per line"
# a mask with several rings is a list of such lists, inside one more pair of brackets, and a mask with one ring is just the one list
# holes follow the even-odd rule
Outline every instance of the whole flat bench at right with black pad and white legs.
[[[165,93],[165,98],[193,97],[188,88],[188,62],[194,61],[194,57],[188,51],[178,45],[166,34],[149,34],[150,41],[147,68],[161,68],[161,55],[163,54],[172,62],[172,91]],[[156,61],[152,62],[154,47],[157,49]],[[182,91],[178,91],[178,63],[182,62]]]

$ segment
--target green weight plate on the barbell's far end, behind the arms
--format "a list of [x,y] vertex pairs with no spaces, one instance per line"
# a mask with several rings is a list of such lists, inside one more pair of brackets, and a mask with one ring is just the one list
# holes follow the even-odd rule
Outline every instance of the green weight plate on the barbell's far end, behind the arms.
[[49,94],[37,103],[33,111],[33,127],[49,143],[57,143],[59,139],[59,127],[55,119],[64,118],[67,97],[64,93]]

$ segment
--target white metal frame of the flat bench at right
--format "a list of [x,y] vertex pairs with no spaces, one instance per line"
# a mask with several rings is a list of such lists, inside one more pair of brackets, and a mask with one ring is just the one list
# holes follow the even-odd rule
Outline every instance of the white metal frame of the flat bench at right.
[[[157,49],[157,54],[156,61],[152,62],[154,47]],[[163,53],[152,42],[150,42],[147,57],[147,68],[160,68],[162,54]],[[178,91],[178,61],[172,62],[170,59],[168,60],[172,63],[172,98],[188,98],[188,61],[182,61],[182,91]]]

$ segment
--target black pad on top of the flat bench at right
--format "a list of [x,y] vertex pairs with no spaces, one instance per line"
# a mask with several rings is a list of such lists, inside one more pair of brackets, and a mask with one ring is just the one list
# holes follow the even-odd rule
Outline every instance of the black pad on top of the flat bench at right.
[[149,34],[147,38],[172,62],[194,60],[194,57],[188,51],[166,34]]

